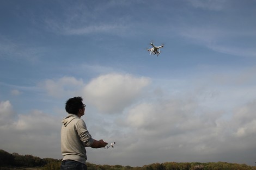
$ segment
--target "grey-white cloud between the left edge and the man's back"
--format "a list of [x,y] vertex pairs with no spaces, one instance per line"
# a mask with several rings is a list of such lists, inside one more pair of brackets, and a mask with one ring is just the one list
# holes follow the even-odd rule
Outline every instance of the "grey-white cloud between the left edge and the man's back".
[[7,152],[54,158],[60,155],[60,128],[59,117],[39,110],[16,115],[9,101],[0,103],[0,143]]

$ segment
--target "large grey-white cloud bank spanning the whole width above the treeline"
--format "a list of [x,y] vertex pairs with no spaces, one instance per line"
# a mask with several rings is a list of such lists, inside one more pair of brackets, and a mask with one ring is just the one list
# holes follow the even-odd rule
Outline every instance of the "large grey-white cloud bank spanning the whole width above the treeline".
[[[231,110],[214,108],[210,105],[216,105],[214,102],[222,98],[222,93],[202,98],[202,93],[209,94],[207,88],[199,93],[191,93],[191,89],[190,94],[168,93],[155,98],[156,86],[152,83],[154,80],[145,77],[109,73],[87,84],[82,79],[63,77],[45,80],[42,85],[54,97],[68,87],[70,94],[80,91],[90,108],[94,106],[99,111],[87,116],[89,131],[97,139],[117,144],[113,150],[88,148],[89,162],[142,166],[142,162],[145,165],[166,161],[253,161],[243,153],[255,150],[255,99],[240,105],[229,103]],[[147,95],[143,95],[146,89]],[[166,90],[162,89],[160,94]],[[205,99],[208,102],[204,103]],[[62,158],[59,131],[64,115],[53,116],[40,110],[19,114],[8,100],[0,103],[0,110],[0,142],[8,152]],[[105,114],[112,116],[102,117]],[[226,156],[230,153],[232,156]],[[240,162],[240,155],[246,156],[248,162]]]

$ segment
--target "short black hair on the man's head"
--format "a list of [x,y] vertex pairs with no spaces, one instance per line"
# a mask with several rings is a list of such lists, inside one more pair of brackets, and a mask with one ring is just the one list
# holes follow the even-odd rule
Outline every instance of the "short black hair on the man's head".
[[78,114],[79,109],[83,108],[83,98],[82,97],[73,97],[66,101],[66,112],[69,114]]

